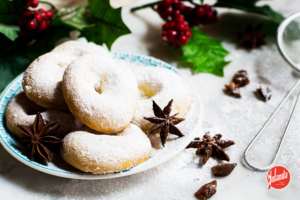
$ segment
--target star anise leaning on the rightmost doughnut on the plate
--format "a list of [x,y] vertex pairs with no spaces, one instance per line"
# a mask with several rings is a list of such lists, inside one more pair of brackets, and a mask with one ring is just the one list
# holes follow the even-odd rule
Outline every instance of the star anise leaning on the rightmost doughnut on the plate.
[[165,146],[168,133],[177,135],[179,137],[184,136],[175,126],[184,121],[184,119],[176,117],[179,113],[170,116],[170,113],[172,111],[172,103],[173,99],[168,103],[164,110],[161,110],[161,108],[155,103],[155,101],[153,101],[153,111],[156,117],[144,117],[145,120],[156,124],[150,128],[147,134],[155,134],[160,130],[160,139],[163,146]]

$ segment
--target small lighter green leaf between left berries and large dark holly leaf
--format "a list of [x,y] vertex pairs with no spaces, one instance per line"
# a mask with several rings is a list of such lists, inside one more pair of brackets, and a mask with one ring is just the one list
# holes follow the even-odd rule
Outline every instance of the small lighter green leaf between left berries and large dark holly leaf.
[[84,28],[90,26],[91,23],[91,17],[88,16],[87,12],[86,12],[86,4],[83,3],[80,5],[80,7],[78,8],[77,13],[70,17],[67,18],[65,20],[62,20],[62,22],[71,27],[71,28],[75,28],[77,30],[83,30]]

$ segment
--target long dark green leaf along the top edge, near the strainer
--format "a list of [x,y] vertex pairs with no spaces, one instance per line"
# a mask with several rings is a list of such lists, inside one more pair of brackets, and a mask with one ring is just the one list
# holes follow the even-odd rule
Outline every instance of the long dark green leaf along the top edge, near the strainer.
[[284,17],[280,13],[272,10],[270,6],[256,6],[255,4],[257,2],[258,0],[218,0],[214,6],[235,8],[247,12],[266,15],[277,24],[280,24],[284,20]]

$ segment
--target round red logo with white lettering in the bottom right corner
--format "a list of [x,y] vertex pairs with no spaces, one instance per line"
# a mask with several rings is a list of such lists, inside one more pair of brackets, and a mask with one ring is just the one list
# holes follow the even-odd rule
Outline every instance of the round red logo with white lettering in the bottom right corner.
[[269,189],[283,189],[285,188],[290,182],[291,176],[290,172],[281,166],[275,166],[268,172],[267,180],[269,183]]

